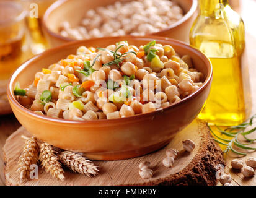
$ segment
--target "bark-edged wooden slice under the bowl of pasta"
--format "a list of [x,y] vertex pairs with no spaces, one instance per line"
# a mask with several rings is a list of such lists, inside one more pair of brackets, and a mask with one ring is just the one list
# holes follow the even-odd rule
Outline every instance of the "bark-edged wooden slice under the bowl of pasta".
[[[94,178],[87,178],[65,169],[66,179],[57,181],[40,168],[38,179],[30,179],[20,184],[16,170],[25,142],[21,135],[31,136],[24,127],[20,127],[4,145],[6,165],[4,171],[7,185],[215,185],[216,165],[224,164],[223,152],[215,144],[208,127],[205,123],[195,120],[179,132],[169,145],[154,153],[129,160],[94,161],[95,165],[100,166],[100,174]],[[182,140],[185,139],[195,142],[196,147],[192,153],[183,150]],[[167,148],[180,151],[173,168],[162,165]],[[154,170],[152,178],[142,179],[139,176],[138,165],[142,161],[150,161]]]

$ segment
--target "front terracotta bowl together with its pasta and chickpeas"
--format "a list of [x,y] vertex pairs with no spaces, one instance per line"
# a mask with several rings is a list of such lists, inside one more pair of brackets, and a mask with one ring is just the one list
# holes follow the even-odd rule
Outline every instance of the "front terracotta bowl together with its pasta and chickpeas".
[[94,160],[153,152],[200,113],[211,62],[162,37],[105,37],[49,49],[22,64],[7,95],[33,136]]

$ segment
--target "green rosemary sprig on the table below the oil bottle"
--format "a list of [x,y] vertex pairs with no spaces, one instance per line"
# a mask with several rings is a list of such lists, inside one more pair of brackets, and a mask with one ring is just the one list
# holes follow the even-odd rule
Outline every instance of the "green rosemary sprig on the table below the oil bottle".
[[[239,124],[237,126],[231,126],[231,127],[227,127],[226,129],[221,129],[219,126],[216,126],[216,129],[218,130],[219,133],[224,134],[225,136],[231,137],[231,139],[224,139],[223,137],[218,136],[212,129],[211,127],[208,125],[211,133],[213,134],[213,136],[215,136],[216,138],[214,138],[214,140],[216,142],[218,142],[221,145],[226,146],[226,149],[223,151],[224,153],[228,153],[229,151],[236,153],[237,155],[247,155],[246,153],[241,153],[238,152],[236,149],[233,148],[233,145],[236,145],[237,147],[241,148],[241,149],[246,149],[246,150],[256,150],[256,148],[254,147],[249,147],[250,144],[253,144],[254,141],[256,141],[256,139],[249,139],[248,137],[246,137],[249,134],[252,134],[253,132],[256,131],[256,127],[254,127],[253,129],[250,129],[249,131],[246,131],[247,127],[252,126],[254,124],[254,118],[256,118],[256,114],[254,114],[254,116],[252,116],[251,118],[247,119],[244,123]],[[238,136],[243,136],[244,139],[248,142],[247,144],[243,144],[241,142],[239,142],[238,140]]]

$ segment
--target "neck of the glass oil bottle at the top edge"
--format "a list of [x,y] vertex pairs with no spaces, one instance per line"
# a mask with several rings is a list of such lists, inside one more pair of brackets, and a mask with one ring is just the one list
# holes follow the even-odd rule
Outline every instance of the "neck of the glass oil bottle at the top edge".
[[229,5],[229,0],[199,0],[200,14],[212,15],[227,5]]

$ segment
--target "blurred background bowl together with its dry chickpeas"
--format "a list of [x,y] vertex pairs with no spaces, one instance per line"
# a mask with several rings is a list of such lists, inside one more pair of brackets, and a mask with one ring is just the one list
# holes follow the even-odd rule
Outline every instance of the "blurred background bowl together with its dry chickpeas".
[[[188,41],[190,27],[196,17],[197,0],[140,0],[130,6],[122,6],[123,2],[131,1],[57,1],[48,8],[43,17],[46,38],[52,46],[58,46],[68,41],[92,37],[132,33],[143,35],[143,31],[146,31],[147,35]],[[147,4],[144,7],[141,6],[143,1]],[[161,4],[160,1],[167,1],[169,4],[173,2],[177,6],[167,9],[169,5]],[[109,7],[110,5],[113,6]],[[99,7],[105,9],[98,9]],[[68,25],[63,22],[68,22]]]

